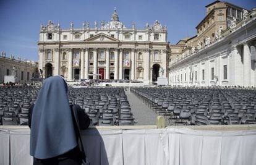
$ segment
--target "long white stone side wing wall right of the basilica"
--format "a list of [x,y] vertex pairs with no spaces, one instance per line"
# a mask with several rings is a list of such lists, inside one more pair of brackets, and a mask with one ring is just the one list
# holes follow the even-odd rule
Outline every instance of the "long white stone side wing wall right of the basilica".
[[[195,54],[182,59],[169,67],[171,77],[170,85],[182,86],[244,86],[256,87],[255,60],[251,59],[251,50],[256,44],[256,19],[250,20],[243,26],[234,30],[220,41],[201,49]],[[227,66],[227,79],[224,79],[224,65]],[[185,78],[179,83],[173,76],[181,76],[182,70],[187,70],[189,78],[189,67],[192,66],[195,74],[197,70],[198,82],[194,79],[191,83]],[[211,80],[211,68],[214,68],[215,78]],[[202,80],[202,70],[205,70],[205,80]],[[182,75],[184,73],[182,72]],[[200,76],[199,76],[200,75]]]

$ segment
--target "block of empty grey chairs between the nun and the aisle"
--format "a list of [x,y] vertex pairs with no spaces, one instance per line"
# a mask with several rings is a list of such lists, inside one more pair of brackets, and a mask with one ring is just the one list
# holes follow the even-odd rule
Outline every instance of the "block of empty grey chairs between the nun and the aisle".
[[70,88],[70,104],[78,104],[93,125],[134,125],[124,88]]

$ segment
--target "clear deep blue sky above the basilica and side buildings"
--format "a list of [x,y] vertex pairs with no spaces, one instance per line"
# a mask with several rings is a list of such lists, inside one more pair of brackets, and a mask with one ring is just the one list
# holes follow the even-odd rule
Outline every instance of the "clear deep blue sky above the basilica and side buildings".
[[[17,59],[38,61],[40,24],[48,20],[61,28],[82,28],[83,21],[100,23],[111,19],[114,7],[119,20],[143,29],[157,19],[168,28],[168,41],[176,44],[187,36],[196,35],[195,27],[205,17],[205,6],[213,0],[0,0],[0,52]],[[229,0],[232,4],[252,9],[254,0]]]

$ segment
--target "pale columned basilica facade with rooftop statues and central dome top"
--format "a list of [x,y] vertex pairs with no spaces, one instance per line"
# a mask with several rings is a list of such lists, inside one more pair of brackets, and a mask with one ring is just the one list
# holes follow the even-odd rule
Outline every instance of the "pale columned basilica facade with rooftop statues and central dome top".
[[61,29],[49,20],[40,27],[39,69],[42,76],[63,75],[67,80],[114,79],[154,82],[159,70],[168,76],[169,43],[166,27],[156,20],[145,29],[127,28],[116,9],[109,22]]

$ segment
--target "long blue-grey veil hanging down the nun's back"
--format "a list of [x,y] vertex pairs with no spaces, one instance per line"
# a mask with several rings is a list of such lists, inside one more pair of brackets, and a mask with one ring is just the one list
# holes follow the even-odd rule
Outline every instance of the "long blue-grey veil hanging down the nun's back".
[[46,78],[33,108],[30,155],[53,158],[77,146],[67,83],[61,76]]

